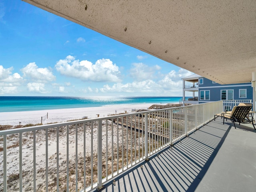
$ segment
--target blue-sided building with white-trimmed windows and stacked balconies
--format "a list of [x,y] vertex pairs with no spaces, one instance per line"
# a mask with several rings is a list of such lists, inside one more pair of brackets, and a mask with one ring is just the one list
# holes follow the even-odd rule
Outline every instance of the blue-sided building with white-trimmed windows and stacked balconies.
[[[190,98],[188,98],[190,93]],[[191,98],[192,93],[192,98]],[[183,103],[197,104],[219,100],[252,100],[251,82],[240,84],[218,84],[199,75],[183,78]],[[185,98],[188,98],[185,100]]]

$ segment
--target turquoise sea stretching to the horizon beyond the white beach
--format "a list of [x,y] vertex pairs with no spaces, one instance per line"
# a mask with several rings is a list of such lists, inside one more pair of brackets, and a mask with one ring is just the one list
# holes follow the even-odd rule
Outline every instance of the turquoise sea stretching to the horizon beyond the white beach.
[[0,96],[0,112],[50,110],[106,105],[176,103],[182,97],[32,97]]

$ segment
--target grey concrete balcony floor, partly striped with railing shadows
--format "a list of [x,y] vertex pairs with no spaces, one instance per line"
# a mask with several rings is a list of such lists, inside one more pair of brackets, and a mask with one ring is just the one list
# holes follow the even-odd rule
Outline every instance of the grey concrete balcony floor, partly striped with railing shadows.
[[[245,126],[246,125],[246,126]],[[101,191],[255,191],[256,130],[218,117]],[[142,168],[140,167],[142,165]]]

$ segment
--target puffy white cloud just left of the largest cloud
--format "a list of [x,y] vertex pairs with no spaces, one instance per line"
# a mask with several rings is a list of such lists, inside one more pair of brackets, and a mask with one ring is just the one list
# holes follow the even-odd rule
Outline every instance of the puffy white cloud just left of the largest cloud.
[[38,68],[35,62],[29,63],[21,71],[24,77],[30,78],[32,82],[46,83],[56,79],[48,68]]

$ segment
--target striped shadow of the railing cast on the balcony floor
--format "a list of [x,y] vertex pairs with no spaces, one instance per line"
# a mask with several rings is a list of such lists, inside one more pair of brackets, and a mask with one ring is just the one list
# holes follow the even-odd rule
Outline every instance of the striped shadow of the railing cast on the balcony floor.
[[212,122],[106,183],[101,191],[194,191],[232,125]]

